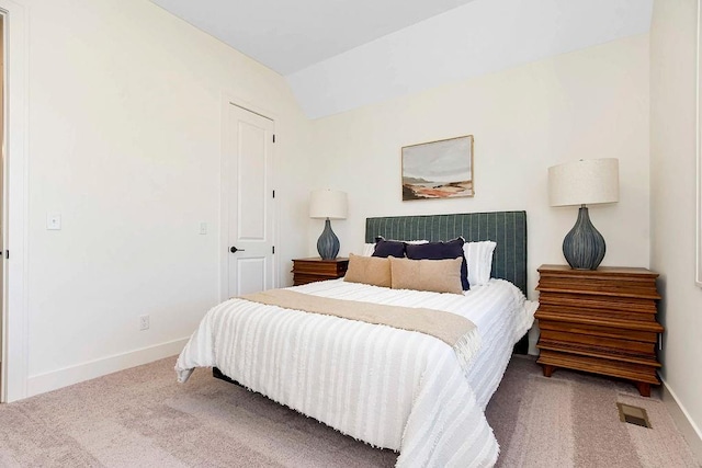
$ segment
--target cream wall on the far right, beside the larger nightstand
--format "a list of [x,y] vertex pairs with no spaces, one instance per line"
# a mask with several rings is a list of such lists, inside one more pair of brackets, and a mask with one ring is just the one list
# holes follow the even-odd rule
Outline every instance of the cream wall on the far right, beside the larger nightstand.
[[695,0],[654,4],[650,30],[652,269],[660,273],[665,379],[702,456],[702,289],[695,251]]

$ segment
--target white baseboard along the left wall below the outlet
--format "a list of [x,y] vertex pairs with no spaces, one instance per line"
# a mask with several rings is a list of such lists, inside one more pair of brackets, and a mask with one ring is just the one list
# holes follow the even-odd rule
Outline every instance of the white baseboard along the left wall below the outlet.
[[[127,353],[89,361],[63,369],[52,370],[50,373],[30,376],[27,378],[27,397],[56,390],[129,367],[152,363],[154,361],[165,357],[174,356],[181,352],[186,342],[188,339],[183,338]],[[176,361],[173,361],[173,365],[174,364]],[[176,381],[174,374],[173,381]]]

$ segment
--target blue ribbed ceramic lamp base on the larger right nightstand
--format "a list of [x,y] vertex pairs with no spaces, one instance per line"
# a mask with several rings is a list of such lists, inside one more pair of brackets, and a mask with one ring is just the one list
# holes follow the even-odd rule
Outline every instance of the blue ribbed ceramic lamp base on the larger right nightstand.
[[590,222],[588,207],[582,205],[578,220],[563,240],[563,254],[571,269],[597,270],[604,259],[604,238]]

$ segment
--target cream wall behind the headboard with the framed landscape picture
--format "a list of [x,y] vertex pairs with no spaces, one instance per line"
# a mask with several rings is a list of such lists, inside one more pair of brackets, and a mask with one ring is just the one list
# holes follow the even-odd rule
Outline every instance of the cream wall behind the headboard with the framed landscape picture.
[[[528,64],[314,121],[316,187],[349,193],[333,221],[359,252],[369,216],[525,209],[531,296],[543,263],[565,263],[577,207],[548,206],[550,165],[619,158],[620,202],[590,207],[604,265],[648,266],[648,35]],[[474,198],[401,202],[400,148],[475,137]],[[310,221],[309,253],[321,221]]]

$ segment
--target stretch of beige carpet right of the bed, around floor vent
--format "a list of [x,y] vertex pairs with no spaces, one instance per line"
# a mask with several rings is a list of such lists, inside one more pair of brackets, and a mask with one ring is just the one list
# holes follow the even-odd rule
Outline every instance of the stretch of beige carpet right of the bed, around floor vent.
[[[516,356],[487,419],[500,443],[500,467],[698,467],[654,391],[558,369],[543,377],[532,357]],[[641,407],[652,429],[622,423],[616,402]]]

